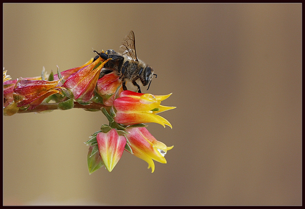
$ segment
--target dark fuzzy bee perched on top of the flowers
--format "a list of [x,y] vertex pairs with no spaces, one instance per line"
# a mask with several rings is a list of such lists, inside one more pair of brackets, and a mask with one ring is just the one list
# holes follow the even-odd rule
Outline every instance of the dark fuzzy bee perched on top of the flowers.
[[99,53],[95,50],[94,52],[98,54],[94,61],[99,58],[99,56],[105,60],[112,58],[112,60],[109,60],[104,65],[99,78],[107,73],[115,72],[117,76],[120,76],[120,80],[122,80],[123,90],[127,90],[125,80],[130,80],[133,85],[138,87],[138,92],[141,93],[140,86],[136,80],[140,79],[143,86],[148,85],[148,90],[152,81],[152,76],[157,77],[157,75],[153,73],[154,71],[151,66],[146,65],[142,60],[138,59],[135,51],[135,34],[132,30],[122,41],[119,53],[115,52],[113,49],[107,50],[106,53]]

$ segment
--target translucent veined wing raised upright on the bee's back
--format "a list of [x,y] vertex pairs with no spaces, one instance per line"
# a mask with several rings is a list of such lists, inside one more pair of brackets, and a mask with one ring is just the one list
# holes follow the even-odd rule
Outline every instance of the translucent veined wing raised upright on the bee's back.
[[138,61],[137,53],[135,51],[135,34],[132,30],[129,31],[122,41],[122,45],[120,46],[120,54],[132,58],[133,61]]

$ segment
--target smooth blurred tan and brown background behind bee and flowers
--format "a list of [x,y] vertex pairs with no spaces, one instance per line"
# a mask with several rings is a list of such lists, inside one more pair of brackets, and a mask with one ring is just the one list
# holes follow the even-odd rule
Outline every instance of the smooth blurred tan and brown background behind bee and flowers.
[[129,30],[173,95],[148,130],[167,164],[124,152],[89,175],[83,143],[107,123],[81,109],[3,117],[4,204],[300,205],[301,4],[4,4],[3,66],[16,79],[118,50]]

